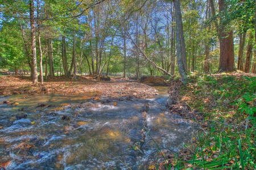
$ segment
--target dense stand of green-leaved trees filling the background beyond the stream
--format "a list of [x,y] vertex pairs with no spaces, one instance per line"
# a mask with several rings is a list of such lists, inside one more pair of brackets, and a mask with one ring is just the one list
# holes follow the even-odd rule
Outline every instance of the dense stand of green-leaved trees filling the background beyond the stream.
[[139,78],[256,70],[252,0],[2,0],[0,11],[0,67],[35,74],[34,83],[38,71]]

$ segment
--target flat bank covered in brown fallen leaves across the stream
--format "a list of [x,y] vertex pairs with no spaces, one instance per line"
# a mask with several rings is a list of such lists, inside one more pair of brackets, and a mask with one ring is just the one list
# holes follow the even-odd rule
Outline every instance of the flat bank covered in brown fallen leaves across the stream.
[[32,84],[29,76],[0,76],[0,95],[58,93],[63,95],[98,92],[102,96],[133,96],[145,98],[158,94],[158,90],[146,84],[124,81],[121,77],[111,78],[110,82],[98,82],[95,76],[77,76],[76,80],[65,76],[48,76],[43,86]]

